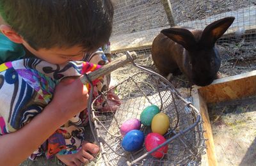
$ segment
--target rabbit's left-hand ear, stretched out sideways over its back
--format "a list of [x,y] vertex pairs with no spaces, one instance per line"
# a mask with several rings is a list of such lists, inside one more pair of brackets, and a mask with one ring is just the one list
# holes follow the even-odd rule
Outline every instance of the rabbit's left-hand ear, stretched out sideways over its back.
[[182,45],[186,50],[193,50],[196,47],[195,37],[188,29],[169,28],[163,29],[161,33]]

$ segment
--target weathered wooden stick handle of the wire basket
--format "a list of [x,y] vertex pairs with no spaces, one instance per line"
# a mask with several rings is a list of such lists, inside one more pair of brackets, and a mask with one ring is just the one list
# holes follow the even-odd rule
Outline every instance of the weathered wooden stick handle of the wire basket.
[[119,57],[118,59],[115,59],[111,63],[108,63],[108,64],[102,66],[98,70],[95,70],[94,72],[89,73],[87,75],[88,79],[84,76],[80,77],[81,82],[83,82],[83,84],[86,84],[88,82],[88,80],[95,80],[103,75],[108,75],[109,73],[124,66],[125,64],[134,61],[134,59],[136,59],[136,56],[137,56],[136,52],[127,51],[127,52],[125,52],[125,54],[126,55]]

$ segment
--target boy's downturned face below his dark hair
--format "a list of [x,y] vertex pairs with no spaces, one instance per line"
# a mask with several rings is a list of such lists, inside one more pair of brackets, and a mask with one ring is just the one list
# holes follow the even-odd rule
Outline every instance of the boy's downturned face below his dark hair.
[[85,55],[84,50],[81,47],[74,46],[70,48],[51,48],[51,49],[38,49],[35,50],[28,45],[23,43],[24,47],[29,50],[32,54],[44,61],[52,64],[63,64],[68,61],[81,61]]

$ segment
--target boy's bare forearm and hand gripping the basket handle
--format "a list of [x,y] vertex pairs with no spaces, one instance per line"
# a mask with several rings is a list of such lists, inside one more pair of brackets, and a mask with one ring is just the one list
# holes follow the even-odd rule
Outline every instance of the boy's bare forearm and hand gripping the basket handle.
[[[61,125],[84,110],[87,99],[87,89],[80,79],[66,79],[60,82],[56,86],[51,103],[42,113],[33,117],[20,130],[0,136],[0,147],[4,149],[0,150],[0,165],[19,165]],[[18,155],[13,158],[13,154]]]

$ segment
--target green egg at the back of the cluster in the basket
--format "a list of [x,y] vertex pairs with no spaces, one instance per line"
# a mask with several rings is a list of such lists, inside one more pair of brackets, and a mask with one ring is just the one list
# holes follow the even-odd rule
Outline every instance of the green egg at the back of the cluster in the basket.
[[160,112],[156,105],[150,105],[145,108],[140,114],[140,121],[145,126],[150,126],[153,117]]

